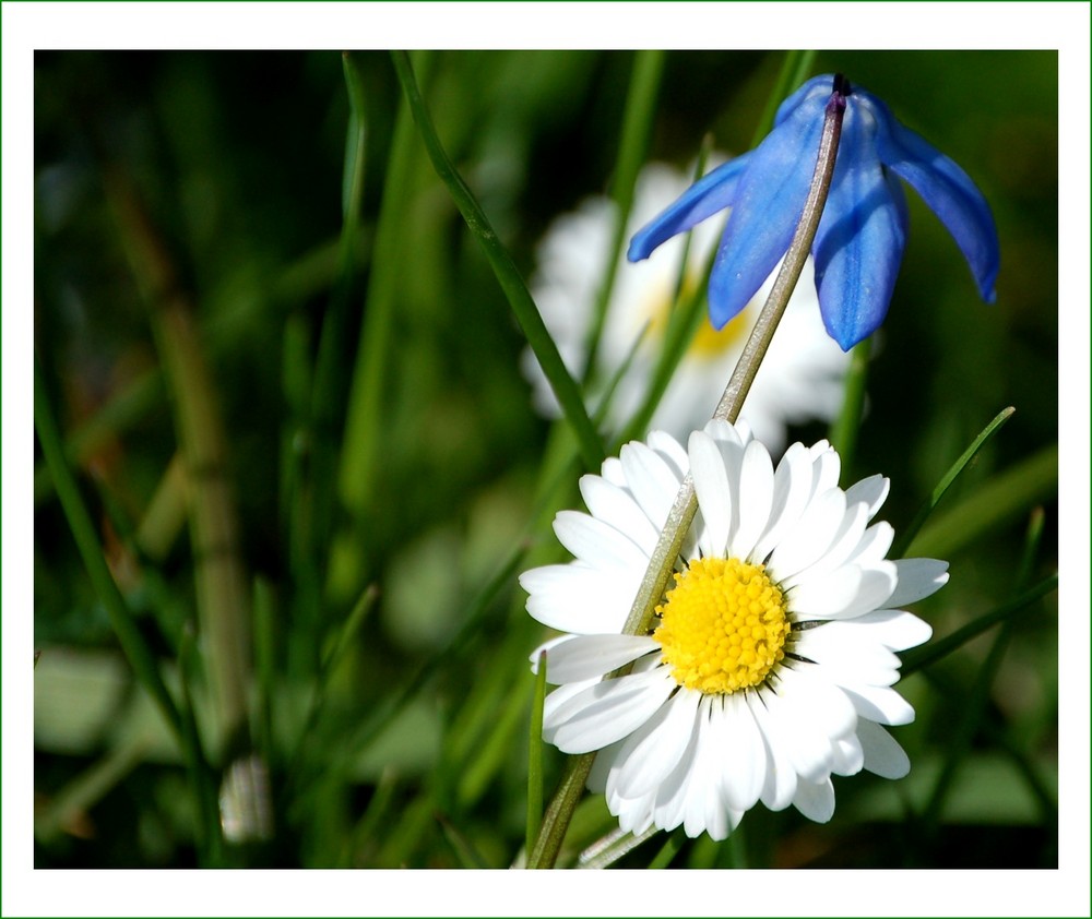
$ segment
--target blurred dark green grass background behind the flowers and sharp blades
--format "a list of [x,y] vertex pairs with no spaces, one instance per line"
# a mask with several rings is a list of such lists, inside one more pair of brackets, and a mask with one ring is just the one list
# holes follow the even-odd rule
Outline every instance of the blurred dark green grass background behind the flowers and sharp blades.
[[[781,57],[667,52],[648,158],[685,165],[707,133],[747,148]],[[610,188],[634,55],[413,60],[529,276],[550,220]],[[1057,57],[820,52],[834,70],[968,170],[1001,239],[986,306],[907,194],[843,472],[891,477],[898,532],[1016,407],[911,550],[951,561],[916,609],[942,637],[1057,566]],[[581,468],[531,409],[524,339],[390,57],[39,52],[34,89],[44,404],[181,725],[93,588],[39,438],[35,864],[508,866],[542,638],[515,574],[563,558],[549,522]],[[901,684],[907,779],[835,783],[828,826],[758,808],[672,864],[1055,866],[1056,612],[1049,593]],[[590,798],[565,858],[612,825]]]

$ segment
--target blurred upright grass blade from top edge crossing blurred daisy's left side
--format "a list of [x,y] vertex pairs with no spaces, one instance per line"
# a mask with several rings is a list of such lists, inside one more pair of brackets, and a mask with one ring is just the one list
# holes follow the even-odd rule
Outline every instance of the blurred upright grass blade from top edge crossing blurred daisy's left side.
[[603,283],[595,296],[595,309],[592,313],[592,326],[589,332],[587,356],[581,374],[585,381],[595,367],[600,338],[606,322],[607,306],[610,302],[610,291],[614,289],[615,275],[618,273],[618,260],[622,247],[626,244],[626,229],[629,225],[630,211],[633,207],[633,188],[649,148],[649,138],[655,118],[656,97],[660,93],[660,77],[663,69],[663,51],[636,52],[629,93],[626,98],[626,111],[622,116],[621,141],[618,145],[618,157],[615,160],[610,188],[610,198],[615,203],[615,231],[606,256]]

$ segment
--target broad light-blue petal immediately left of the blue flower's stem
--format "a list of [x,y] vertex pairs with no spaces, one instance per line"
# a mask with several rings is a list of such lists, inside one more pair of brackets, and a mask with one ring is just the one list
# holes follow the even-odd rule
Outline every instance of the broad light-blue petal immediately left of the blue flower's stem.
[[819,152],[826,97],[806,98],[751,153],[709,278],[709,318],[722,329],[785,254]]

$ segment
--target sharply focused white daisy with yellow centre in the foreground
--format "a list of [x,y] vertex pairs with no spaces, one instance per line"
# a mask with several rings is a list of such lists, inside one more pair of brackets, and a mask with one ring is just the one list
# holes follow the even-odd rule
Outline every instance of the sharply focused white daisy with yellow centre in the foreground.
[[[894,532],[869,522],[888,480],[843,490],[839,470],[826,441],[794,443],[774,467],[746,426],[714,420],[689,450],[661,431],[626,444],[580,480],[590,513],[557,515],[575,558],[520,578],[531,616],[565,633],[543,646],[558,687],[543,733],[600,751],[587,785],[621,828],[723,839],[759,801],[826,822],[832,775],[909,772],[882,726],[913,720],[892,689],[895,652],[931,629],[902,607],[939,589],[948,564],[887,560]],[[687,472],[698,515],[674,585],[649,634],[620,634]]]

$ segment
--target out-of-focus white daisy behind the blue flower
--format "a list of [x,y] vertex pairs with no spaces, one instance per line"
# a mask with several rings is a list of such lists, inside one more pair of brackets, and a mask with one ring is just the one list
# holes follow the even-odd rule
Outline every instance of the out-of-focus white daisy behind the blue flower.
[[[627,235],[651,220],[681,194],[689,179],[663,164],[650,164],[638,179]],[[569,371],[579,375],[587,355],[595,299],[606,271],[615,220],[614,203],[592,198],[559,217],[538,250],[531,293]],[[723,219],[693,229],[686,283],[702,283],[723,228]],[[626,366],[614,392],[605,426],[617,434],[644,402],[667,329],[685,240],[666,240],[649,259],[627,264],[619,258],[614,288],[593,368],[592,408],[606,384]],[[651,426],[676,438],[700,428],[713,414],[747,336],[773,284],[775,272],[747,307],[720,332],[703,323],[679,363]],[[523,371],[534,386],[535,407],[547,417],[559,409],[534,353],[527,349]],[[826,334],[815,293],[811,260],[773,337],[743,411],[755,435],[772,450],[785,443],[786,425],[829,420],[841,406],[847,358]]]

